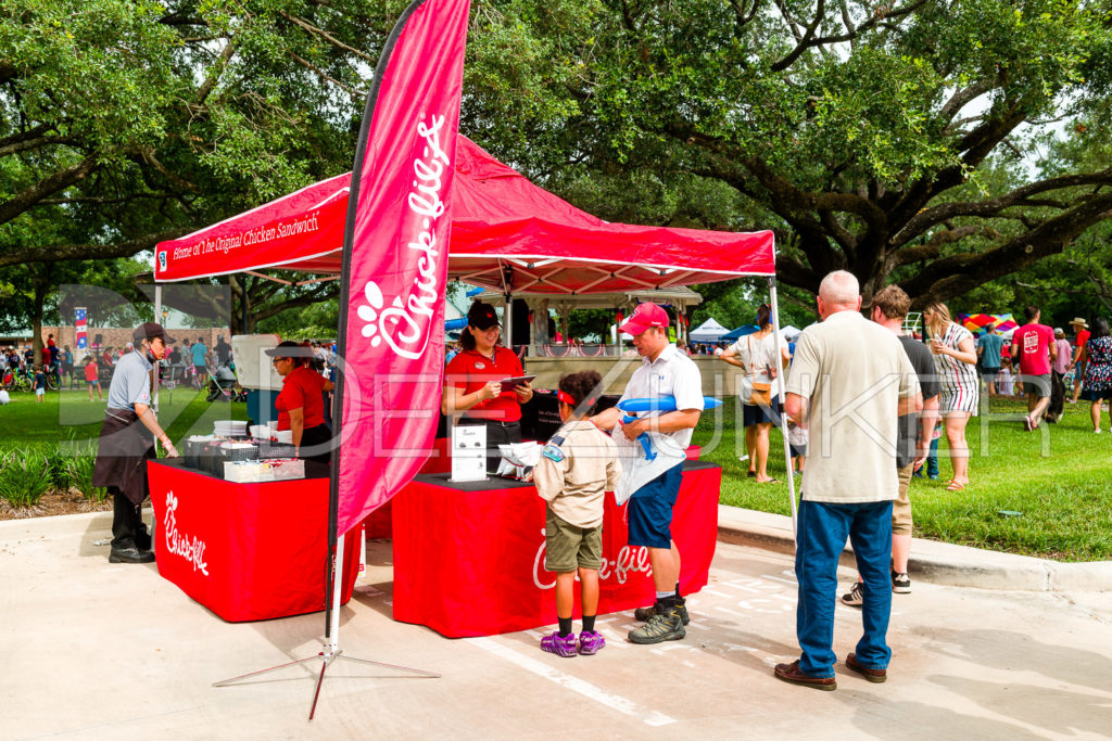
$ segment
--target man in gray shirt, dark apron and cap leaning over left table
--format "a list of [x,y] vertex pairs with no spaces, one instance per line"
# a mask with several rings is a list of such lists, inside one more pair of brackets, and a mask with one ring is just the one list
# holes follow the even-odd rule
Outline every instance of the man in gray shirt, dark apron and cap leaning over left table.
[[109,563],[150,563],[150,534],[140,508],[147,498],[147,461],[155,458],[155,440],[170,458],[178,451],[158,425],[151,409],[152,362],[166,357],[173,340],[161,324],[147,322],[132,334],[135,347],[112,368],[108,409],[100,429],[92,483],[112,494],[112,550]]

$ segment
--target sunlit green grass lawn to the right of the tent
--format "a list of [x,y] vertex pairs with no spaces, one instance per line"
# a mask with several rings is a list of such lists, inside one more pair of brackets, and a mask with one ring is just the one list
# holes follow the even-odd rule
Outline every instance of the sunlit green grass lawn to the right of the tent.
[[[704,445],[703,459],[724,469],[722,501],[790,514],[780,431],[772,432],[768,473],[782,483],[745,478],[747,463],[738,460],[745,440],[743,430],[735,430],[735,405],[705,414],[694,438]],[[945,438],[939,479],[912,480],[915,535],[1063,561],[1112,559],[1112,434],[1093,434],[1089,403],[1068,403],[1058,424],[1035,434],[1019,421],[1026,412],[1024,402],[992,399],[990,412],[966,428],[972,458],[964,491],[946,491],[952,469]],[[1108,419],[1105,411],[1103,427]],[[846,477],[852,479],[853,472]]]

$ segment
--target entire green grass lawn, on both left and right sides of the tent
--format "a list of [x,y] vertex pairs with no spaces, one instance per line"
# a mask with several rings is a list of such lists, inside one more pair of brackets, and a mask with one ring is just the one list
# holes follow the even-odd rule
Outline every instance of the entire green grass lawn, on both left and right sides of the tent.
[[[90,403],[83,390],[49,392],[46,399],[36,404],[32,394],[13,393],[12,403],[0,407],[0,451],[95,442],[103,402]],[[991,414],[970,422],[973,457],[964,491],[945,490],[951,468],[942,441],[939,479],[912,480],[916,537],[1065,561],[1112,559],[1112,433],[1093,434],[1084,402],[1066,404],[1062,421],[1039,434],[1022,429],[1025,410],[1017,400],[993,399]],[[163,390],[159,421],[181,441],[210,433],[217,419],[246,415],[244,403],[210,404],[202,392],[178,389]],[[707,412],[694,439],[703,459],[724,469],[723,503],[788,514],[780,431],[772,432],[768,472],[782,483],[758,484],[745,478],[746,464],[738,460],[745,443],[736,415],[736,400]],[[1106,412],[1103,419],[1106,427]]]

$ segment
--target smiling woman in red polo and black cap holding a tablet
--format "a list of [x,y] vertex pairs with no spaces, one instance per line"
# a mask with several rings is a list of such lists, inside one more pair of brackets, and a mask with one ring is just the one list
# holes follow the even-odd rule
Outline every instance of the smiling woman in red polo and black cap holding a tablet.
[[487,470],[495,471],[499,444],[522,441],[522,404],[533,398],[526,381],[503,390],[499,381],[525,374],[517,354],[498,344],[498,316],[494,307],[476,301],[467,312],[467,327],[459,336],[460,352],[445,371],[440,410],[460,414],[457,424],[483,424],[487,429]]

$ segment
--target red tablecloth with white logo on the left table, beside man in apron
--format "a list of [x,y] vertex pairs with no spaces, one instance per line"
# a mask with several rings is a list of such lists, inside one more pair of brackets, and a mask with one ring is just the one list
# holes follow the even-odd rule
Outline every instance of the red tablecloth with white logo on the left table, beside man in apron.
[[[325,609],[327,479],[232,483],[153,461],[148,470],[162,577],[230,622]],[[345,603],[361,537],[345,539]]]

